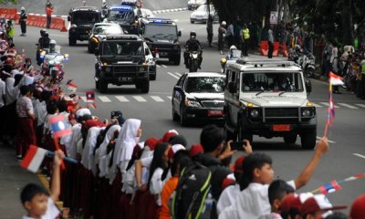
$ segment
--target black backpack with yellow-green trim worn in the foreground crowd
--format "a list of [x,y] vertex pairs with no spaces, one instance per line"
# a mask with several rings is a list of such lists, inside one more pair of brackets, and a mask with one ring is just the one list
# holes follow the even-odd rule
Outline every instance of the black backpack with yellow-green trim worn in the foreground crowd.
[[170,204],[173,219],[212,218],[211,178],[210,169],[199,162],[183,169]]

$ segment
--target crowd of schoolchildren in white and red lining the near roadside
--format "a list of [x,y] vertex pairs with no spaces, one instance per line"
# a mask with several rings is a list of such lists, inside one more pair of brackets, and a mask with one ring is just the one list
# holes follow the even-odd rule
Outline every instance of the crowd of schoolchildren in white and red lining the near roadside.
[[[327,215],[328,210],[342,206],[332,206],[324,195],[294,193],[308,183],[328,151],[326,138],[318,141],[312,158],[292,181],[274,181],[271,157],[253,152],[249,141],[242,148],[245,157],[238,158],[232,170],[236,151],[215,125],[205,126],[200,142],[193,146],[176,130],[168,130],[161,139],[142,141],[141,120],[125,120],[118,112],[110,120],[100,120],[80,106],[74,93],[63,90],[68,83],[30,63],[16,62],[16,47],[6,35],[1,35],[0,42],[1,140],[14,142],[16,158],[21,160],[31,144],[56,151],[49,118],[62,115],[66,129],[72,130],[58,139],[62,151],[56,152],[53,162],[43,162],[41,171],[52,177],[51,193],[34,184],[22,191],[25,218],[55,218],[52,209],[57,198],[71,215],[82,218],[172,218],[172,214],[186,218],[188,212],[171,211],[171,199],[183,174],[196,163],[212,172],[211,196],[206,197],[214,200],[211,216],[215,218],[347,217]],[[65,169],[59,172],[64,154],[78,164],[64,162]],[[33,206],[37,198],[44,203],[42,207]],[[365,218],[364,199],[362,195],[354,202],[350,218]]]

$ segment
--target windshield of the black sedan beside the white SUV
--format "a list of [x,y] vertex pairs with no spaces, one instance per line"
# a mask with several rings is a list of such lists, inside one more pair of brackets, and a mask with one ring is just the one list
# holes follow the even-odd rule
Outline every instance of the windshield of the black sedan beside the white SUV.
[[191,77],[185,85],[188,93],[222,93],[224,92],[224,77]]

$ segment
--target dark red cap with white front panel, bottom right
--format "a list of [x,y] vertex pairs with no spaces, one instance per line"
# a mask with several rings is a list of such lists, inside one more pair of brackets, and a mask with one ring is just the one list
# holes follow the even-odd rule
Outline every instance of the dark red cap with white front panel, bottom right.
[[302,204],[299,212],[302,216],[304,216],[318,211],[339,210],[345,208],[347,208],[346,205],[333,206],[329,203],[328,198],[324,194],[316,194],[313,197],[308,198],[308,200]]

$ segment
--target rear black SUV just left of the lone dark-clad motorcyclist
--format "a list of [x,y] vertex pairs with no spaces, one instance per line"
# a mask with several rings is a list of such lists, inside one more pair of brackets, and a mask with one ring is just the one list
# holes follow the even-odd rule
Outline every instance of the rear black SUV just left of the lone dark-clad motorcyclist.
[[168,58],[174,65],[180,65],[182,32],[171,19],[141,18],[141,35],[150,47],[153,57]]

